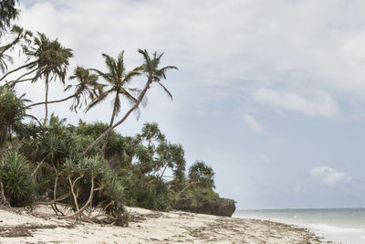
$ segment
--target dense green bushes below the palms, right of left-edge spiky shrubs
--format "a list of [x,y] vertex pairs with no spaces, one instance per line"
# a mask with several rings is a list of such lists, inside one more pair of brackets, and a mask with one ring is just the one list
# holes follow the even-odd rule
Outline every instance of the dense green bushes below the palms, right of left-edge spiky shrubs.
[[183,146],[168,142],[156,123],[146,123],[134,137],[110,133],[104,153],[100,143],[83,156],[84,149],[106,128],[101,122],[68,126],[54,115],[46,122],[20,126],[16,131],[19,150],[37,168],[37,196],[48,200],[67,196],[55,203],[75,212],[101,207],[119,224],[126,221],[124,205],[165,211],[174,207],[175,196],[188,197],[189,205],[198,208],[219,197],[212,190],[212,168],[198,161],[186,178]]

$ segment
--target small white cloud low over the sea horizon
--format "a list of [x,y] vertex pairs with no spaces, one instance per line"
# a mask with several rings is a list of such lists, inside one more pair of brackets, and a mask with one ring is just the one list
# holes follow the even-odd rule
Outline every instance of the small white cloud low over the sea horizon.
[[349,184],[352,178],[345,172],[339,172],[328,166],[317,166],[309,173],[313,178],[321,180],[327,186],[340,186]]

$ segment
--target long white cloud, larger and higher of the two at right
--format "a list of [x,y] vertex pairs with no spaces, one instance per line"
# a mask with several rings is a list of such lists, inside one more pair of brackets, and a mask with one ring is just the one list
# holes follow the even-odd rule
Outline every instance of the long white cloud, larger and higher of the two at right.
[[339,113],[339,106],[327,93],[316,92],[308,98],[301,97],[293,92],[276,91],[268,89],[255,90],[255,101],[266,103],[270,106],[297,111],[308,116],[333,117]]

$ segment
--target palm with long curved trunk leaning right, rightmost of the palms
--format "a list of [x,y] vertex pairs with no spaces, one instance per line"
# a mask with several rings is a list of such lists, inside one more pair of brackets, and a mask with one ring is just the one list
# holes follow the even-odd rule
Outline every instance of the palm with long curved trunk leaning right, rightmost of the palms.
[[89,147],[85,150],[84,155],[89,154],[91,149],[93,149],[101,140],[103,140],[114,128],[119,126],[122,122],[127,120],[127,118],[130,116],[130,113],[132,111],[135,111],[140,106],[141,101],[144,99],[144,96],[147,92],[147,90],[150,89],[152,83],[158,83],[160,86],[162,86],[162,89],[169,95],[169,97],[172,99],[172,94],[169,90],[166,89],[165,86],[162,85],[161,80],[166,80],[166,71],[169,69],[177,69],[175,66],[166,66],[163,68],[159,68],[161,63],[161,58],[163,56],[163,53],[157,54],[157,52],[153,53],[153,57],[151,58],[149,53],[146,49],[138,49],[138,52],[141,53],[143,56],[143,64],[138,69],[141,69],[143,73],[147,77],[146,85],[144,86],[143,90],[141,90],[140,96],[138,97],[137,101],[134,103],[134,105],[130,108],[129,111],[126,112],[126,114],[121,118],[119,122],[116,122],[114,125],[112,125],[105,133],[102,133],[93,143],[89,145]]

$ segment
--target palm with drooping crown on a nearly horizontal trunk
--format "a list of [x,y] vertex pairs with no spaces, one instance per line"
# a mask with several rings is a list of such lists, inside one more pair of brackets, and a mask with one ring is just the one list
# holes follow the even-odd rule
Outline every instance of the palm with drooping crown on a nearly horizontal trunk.
[[[72,76],[69,77],[70,80],[78,80],[76,85],[68,85],[65,89],[69,90],[72,87],[75,88],[75,91],[72,95],[68,96],[67,98],[57,100],[57,101],[47,101],[48,104],[50,103],[57,103],[62,101],[68,101],[69,99],[74,99],[71,107],[69,108],[71,111],[78,111],[81,106],[87,103],[87,99],[91,101],[95,100],[102,91],[103,85],[98,83],[98,76],[92,74],[89,69],[85,69],[83,67],[78,66],[74,69],[74,73]],[[45,104],[46,101],[36,102],[29,106],[34,107],[38,105]]]

